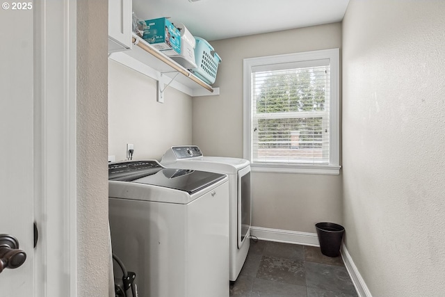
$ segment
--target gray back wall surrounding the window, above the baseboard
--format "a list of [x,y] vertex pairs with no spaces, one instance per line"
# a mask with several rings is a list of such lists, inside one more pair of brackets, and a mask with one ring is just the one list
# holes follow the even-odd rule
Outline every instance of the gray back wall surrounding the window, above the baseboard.
[[[193,99],[193,144],[208,156],[243,157],[243,58],[341,47],[341,24],[212,41],[223,62],[220,95]],[[315,233],[341,222],[341,175],[252,173],[252,225]]]

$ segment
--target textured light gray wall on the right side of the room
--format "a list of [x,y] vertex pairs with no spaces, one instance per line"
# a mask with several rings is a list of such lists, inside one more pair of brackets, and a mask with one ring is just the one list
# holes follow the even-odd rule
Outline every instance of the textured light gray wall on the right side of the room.
[[445,2],[351,0],[343,223],[373,296],[444,296]]

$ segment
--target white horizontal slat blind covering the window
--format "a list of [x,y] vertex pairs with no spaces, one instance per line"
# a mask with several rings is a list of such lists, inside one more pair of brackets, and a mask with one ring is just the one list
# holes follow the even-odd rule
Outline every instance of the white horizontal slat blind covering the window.
[[329,65],[252,72],[254,162],[329,163],[329,72]]

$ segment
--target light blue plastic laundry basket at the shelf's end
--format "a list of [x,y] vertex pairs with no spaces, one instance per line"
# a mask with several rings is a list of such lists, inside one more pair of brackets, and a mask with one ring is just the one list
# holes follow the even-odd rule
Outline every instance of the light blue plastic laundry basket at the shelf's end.
[[216,72],[221,58],[216,54],[213,47],[200,37],[195,37],[195,61],[197,68],[193,68],[192,72],[206,83],[213,84],[216,80]]

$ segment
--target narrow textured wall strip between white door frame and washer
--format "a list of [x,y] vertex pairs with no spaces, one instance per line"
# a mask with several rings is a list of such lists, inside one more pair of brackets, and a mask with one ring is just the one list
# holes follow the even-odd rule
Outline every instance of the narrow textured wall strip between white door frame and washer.
[[108,0],[77,1],[77,296],[108,296]]

